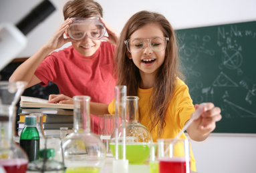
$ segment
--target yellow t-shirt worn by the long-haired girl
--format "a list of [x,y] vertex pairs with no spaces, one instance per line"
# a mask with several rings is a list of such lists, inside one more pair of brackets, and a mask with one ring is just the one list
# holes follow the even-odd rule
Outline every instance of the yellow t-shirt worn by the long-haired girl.
[[[138,88],[138,97],[140,98],[138,100],[139,120],[142,125],[148,128],[148,130],[151,129],[150,117],[148,115],[150,110],[149,100],[152,89],[153,88]],[[186,86],[180,79],[177,79],[177,85],[164,118],[166,126],[164,127],[160,138],[174,138],[183,128],[186,121],[189,120],[194,111],[195,108],[193,100],[190,98],[190,94],[188,92],[188,86]],[[110,112],[110,114],[115,114],[114,100],[109,104],[108,112]],[[156,142],[158,138],[156,128],[151,131],[151,134],[154,142]],[[186,135],[183,133],[180,138],[186,138]],[[195,158],[192,151],[190,152],[190,156],[191,170],[196,172]]]

